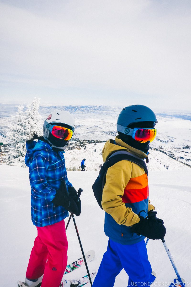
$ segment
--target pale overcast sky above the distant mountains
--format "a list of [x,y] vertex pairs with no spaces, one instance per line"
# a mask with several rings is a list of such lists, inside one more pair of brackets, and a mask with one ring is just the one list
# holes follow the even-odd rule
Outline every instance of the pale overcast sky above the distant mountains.
[[191,1],[0,0],[1,100],[191,110]]

